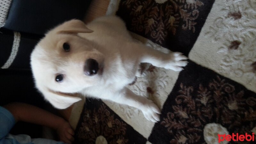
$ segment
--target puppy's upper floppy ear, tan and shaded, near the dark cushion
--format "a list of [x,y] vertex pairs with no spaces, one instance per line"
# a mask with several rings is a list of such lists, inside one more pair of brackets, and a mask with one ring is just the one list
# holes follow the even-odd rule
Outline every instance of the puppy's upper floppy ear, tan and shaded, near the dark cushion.
[[92,33],[81,20],[69,20],[56,28],[57,33]]

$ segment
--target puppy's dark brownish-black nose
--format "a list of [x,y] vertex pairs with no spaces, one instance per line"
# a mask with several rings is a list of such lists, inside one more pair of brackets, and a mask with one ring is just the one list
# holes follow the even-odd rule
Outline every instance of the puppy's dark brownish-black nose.
[[85,61],[84,65],[84,74],[87,76],[93,76],[97,74],[99,70],[99,64],[94,59],[88,59]]

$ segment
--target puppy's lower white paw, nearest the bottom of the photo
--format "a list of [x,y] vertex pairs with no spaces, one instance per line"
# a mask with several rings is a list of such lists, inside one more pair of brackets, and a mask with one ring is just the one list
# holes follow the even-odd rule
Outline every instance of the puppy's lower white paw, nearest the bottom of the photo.
[[156,106],[156,104],[152,100],[148,100],[148,102],[143,105],[141,111],[145,118],[152,122],[157,122],[160,120],[159,114],[161,114],[160,109]]

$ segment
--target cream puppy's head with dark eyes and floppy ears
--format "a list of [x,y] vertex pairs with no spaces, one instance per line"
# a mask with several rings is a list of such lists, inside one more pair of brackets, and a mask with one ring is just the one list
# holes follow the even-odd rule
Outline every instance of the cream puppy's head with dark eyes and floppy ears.
[[99,84],[104,55],[97,44],[78,36],[92,33],[80,20],[70,20],[49,31],[31,54],[36,87],[56,108],[81,100],[73,93]]

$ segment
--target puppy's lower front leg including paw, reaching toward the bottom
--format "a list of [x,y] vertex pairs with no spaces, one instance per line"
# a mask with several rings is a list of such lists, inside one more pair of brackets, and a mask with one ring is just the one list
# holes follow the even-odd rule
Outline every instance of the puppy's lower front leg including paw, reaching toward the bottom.
[[160,109],[156,106],[156,104],[152,100],[148,100],[145,97],[136,95],[128,88],[116,93],[115,98],[111,100],[140,109],[147,120],[152,122],[157,122],[160,120]]

